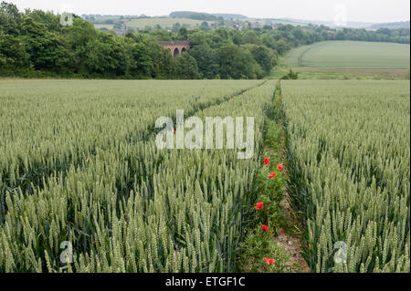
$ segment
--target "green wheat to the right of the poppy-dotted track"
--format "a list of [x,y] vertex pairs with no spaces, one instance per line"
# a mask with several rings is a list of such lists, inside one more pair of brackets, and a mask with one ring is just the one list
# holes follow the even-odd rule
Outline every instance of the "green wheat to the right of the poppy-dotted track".
[[[409,272],[409,81],[282,90],[290,193],[306,218],[311,271]],[[335,264],[341,245],[346,264]]]

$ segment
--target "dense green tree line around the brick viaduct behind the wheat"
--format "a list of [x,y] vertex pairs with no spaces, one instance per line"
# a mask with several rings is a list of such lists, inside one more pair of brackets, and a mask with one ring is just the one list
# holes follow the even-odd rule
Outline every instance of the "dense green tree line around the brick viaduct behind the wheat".
[[[244,30],[184,27],[118,36],[74,16],[61,26],[51,12],[0,5],[0,76],[61,78],[264,78],[293,47],[324,40],[409,44],[408,29],[335,30],[327,26],[271,26]],[[159,40],[189,40],[173,58]]]

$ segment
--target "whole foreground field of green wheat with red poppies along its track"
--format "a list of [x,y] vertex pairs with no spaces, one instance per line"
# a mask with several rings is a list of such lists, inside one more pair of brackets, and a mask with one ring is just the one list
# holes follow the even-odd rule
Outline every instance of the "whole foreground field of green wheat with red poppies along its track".
[[[0,86],[0,272],[290,272],[286,183],[311,272],[409,272],[407,81]],[[179,111],[252,116],[252,155],[227,124],[221,146],[162,149]]]

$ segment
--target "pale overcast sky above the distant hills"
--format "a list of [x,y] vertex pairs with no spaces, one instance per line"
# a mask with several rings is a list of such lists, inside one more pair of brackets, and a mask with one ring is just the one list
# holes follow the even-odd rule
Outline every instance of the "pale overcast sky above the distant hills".
[[[78,15],[166,16],[173,11],[235,13],[249,17],[333,20],[344,13],[348,21],[409,20],[409,0],[5,0],[20,9],[37,8]],[[345,12],[344,12],[345,11]]]

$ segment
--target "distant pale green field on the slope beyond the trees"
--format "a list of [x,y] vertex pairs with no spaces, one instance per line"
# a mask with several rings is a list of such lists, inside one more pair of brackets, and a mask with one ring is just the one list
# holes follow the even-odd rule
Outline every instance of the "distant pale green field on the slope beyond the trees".
[[329,41],[290,51],[283,64],[289,68],[409,69],[409,45]]

